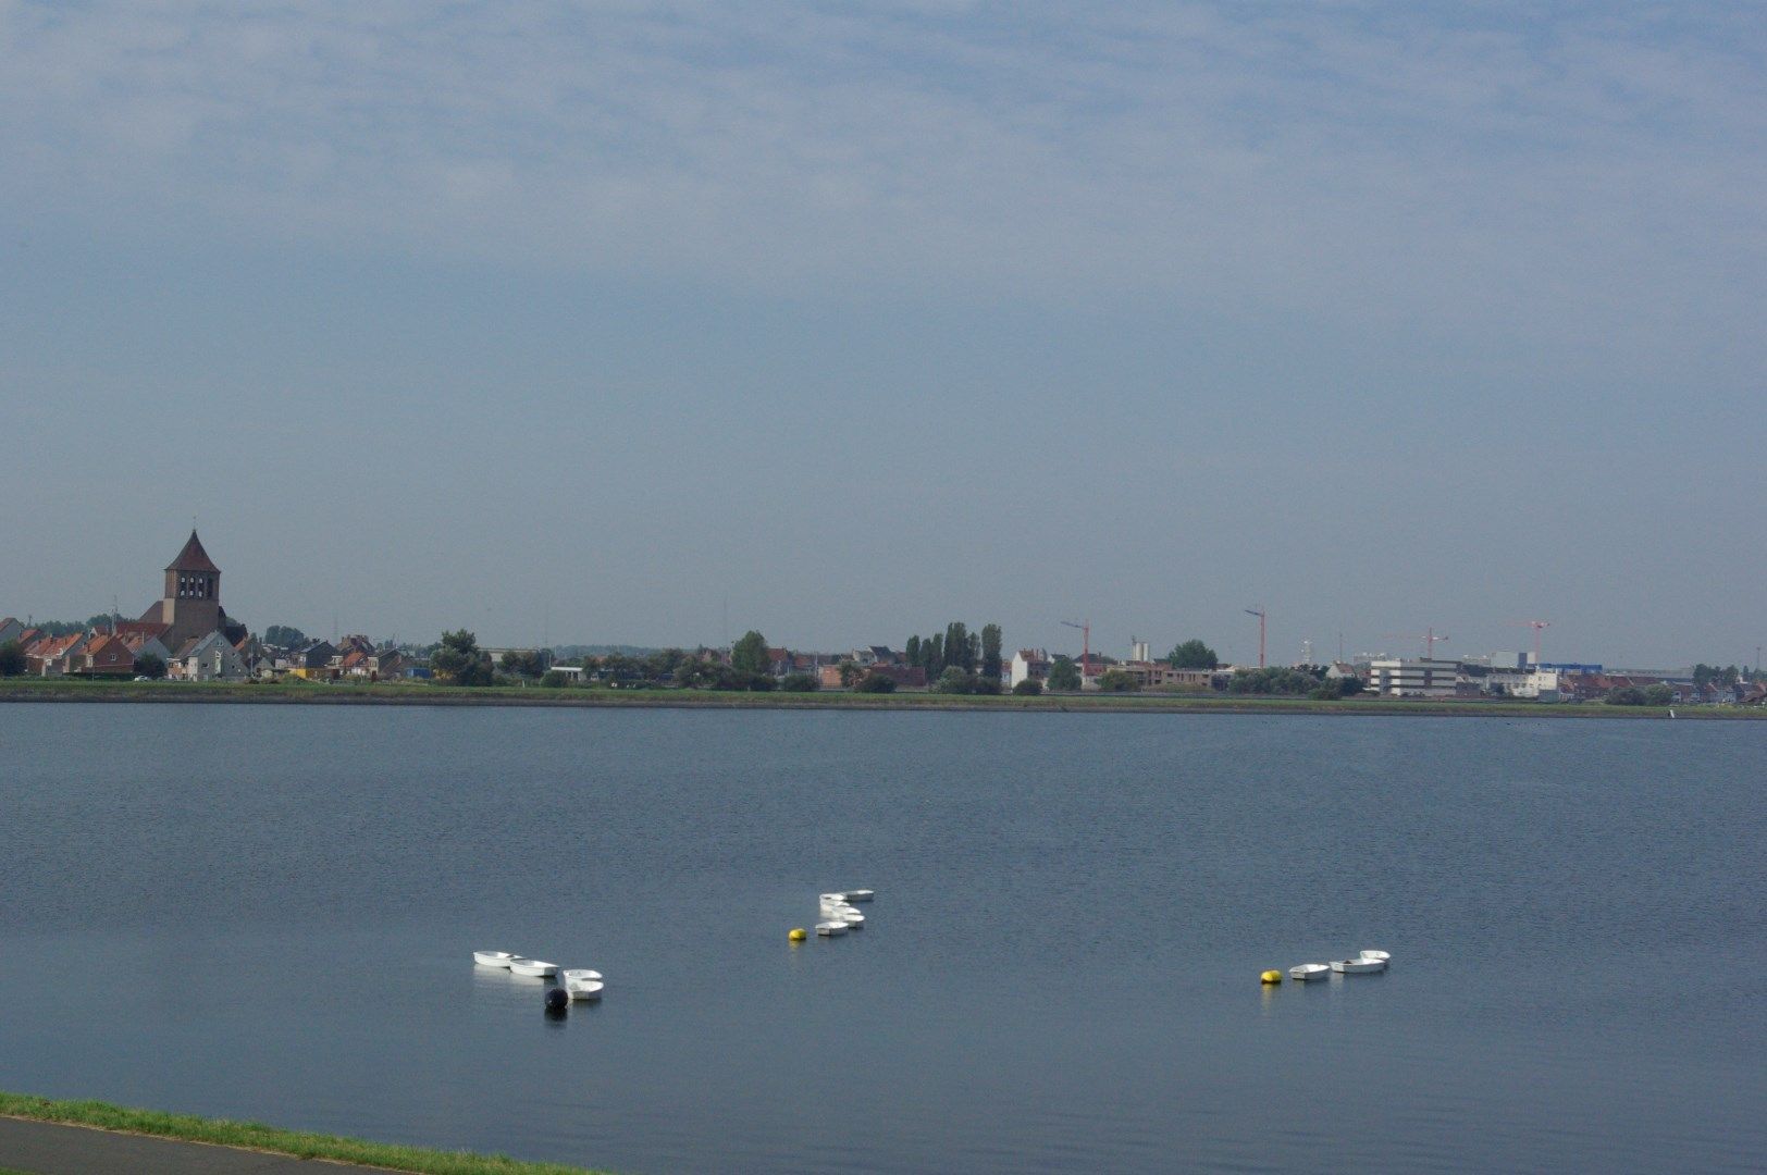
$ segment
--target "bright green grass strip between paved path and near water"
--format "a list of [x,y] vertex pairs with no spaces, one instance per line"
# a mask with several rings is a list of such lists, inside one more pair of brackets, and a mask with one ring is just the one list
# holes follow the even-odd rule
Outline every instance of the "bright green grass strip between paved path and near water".
[[226,1118],[198,1118],[189,1113],[129,1110],[102,1101],[51,1101],[28,1094],[0,1092],[0,1117],[92,1126],[127,1134],[152,1134],[155,1138],[193,1143],[267,1150],[299,1159],[329,1159],[394,1171],[422,1171],[424,1175],[585,1175],[585,1168],[581,1166],[525,1163],[505,1156],[466,1154],[465,1150],[394,1147],[359,1138],[279,1131],[274,1126],[262,1126],[258,1122],[230,1122]]

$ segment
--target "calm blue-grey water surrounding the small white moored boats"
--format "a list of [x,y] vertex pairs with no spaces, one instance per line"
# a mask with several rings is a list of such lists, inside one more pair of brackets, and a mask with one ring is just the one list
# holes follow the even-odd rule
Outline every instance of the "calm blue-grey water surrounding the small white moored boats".
[[[1760,1170],[1763,767],[1755,723],[0,705],[0,1088],[659,1175]],[[790,947],[841,885],[869,926]]]

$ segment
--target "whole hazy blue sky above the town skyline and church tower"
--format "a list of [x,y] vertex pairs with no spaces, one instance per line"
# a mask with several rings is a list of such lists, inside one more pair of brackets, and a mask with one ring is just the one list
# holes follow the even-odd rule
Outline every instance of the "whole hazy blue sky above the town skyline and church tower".
[[1767,643],[1756,4],[0,0],[0,615]]

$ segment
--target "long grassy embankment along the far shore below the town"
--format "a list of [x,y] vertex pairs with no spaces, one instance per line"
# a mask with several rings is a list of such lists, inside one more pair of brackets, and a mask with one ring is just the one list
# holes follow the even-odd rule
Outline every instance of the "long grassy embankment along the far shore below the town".
[[[519,705],[519,707],[710,707],[730,710],[995,710],[1067,714],[1403,714],[1449,717],[1668,717],[1666,707],[1620,707],[1553,701],[1270,698],[1260,694],[1136,693],[1136,694],[935,694],[903,691],[721,693],[698,689],[542,689],[539,686],[456,687],[426,682],[337,684],[277,682],[104,682],[71,677],[0,680],[0,701],[269,701],[316,705]],[[1767,719],[1767,707],[1675,707],[1677,717]]]

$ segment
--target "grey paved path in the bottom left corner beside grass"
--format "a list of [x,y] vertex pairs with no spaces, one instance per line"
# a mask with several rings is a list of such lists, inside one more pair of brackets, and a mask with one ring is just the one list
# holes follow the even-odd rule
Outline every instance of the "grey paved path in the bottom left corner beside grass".
[[376,1170],[23,1118],[0,1118],[0,1168],[32,1175],[339,1175]]

